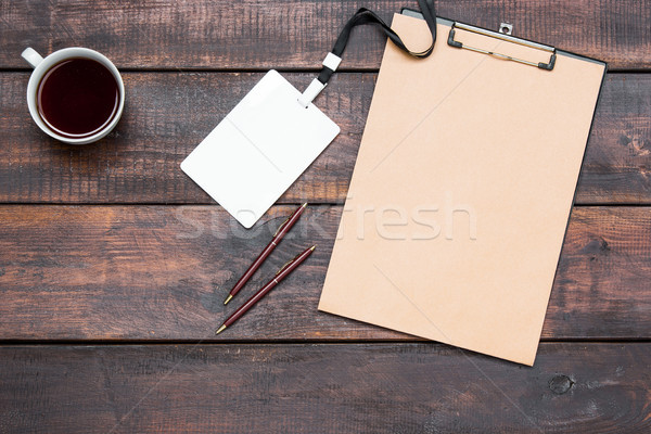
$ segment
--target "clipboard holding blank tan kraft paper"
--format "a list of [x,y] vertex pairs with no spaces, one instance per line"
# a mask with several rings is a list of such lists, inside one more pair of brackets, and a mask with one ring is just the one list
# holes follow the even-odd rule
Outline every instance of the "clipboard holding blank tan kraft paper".
[[506,33],[387,43],[319,309],[531,366],[607,65]]

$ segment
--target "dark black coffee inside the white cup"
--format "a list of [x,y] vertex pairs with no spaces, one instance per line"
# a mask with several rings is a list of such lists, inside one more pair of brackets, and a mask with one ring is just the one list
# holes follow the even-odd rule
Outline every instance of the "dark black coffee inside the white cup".
[[37,107],[42,120],[56,133],[84,138],[98,133],[119,108],[117,80],[106,66],[91,59],[66,59],[41,78]]

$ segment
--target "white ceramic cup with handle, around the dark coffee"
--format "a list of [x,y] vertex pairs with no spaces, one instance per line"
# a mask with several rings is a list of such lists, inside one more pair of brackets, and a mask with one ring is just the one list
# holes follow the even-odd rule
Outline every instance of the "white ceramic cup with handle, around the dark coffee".
[[[117,71],[115,65],[105,55],[100,54],[94,50],[90,50],[88,48],[80,48],[80,47],[64,48],[63,50],[53,52],[52,54],[48,55],[46,59],[43,59],[39,53],[37,53],[31,48],[25,49],[25,51],[23,51],[22,55],[23,55],[23,59],[25,59],[34,67],[31,77],[29,77],[29,84],[27,85],[27,106],[29,107],[29,114],[31,114],[31,118],[34,119],[36,125],[38,125],[38,127],[40,129],[42,129],[43,132],[46,132],[48,136],[51,136],[54,139],[61,140],[62,142],[65,142],[65,143],[85,144],[85,143],[91,143],[91,142],[100,140],[101,138],[106,136],[108,132],[111,132],[111,130],[117,125],[117,123],[122,116],[123,108],[125,106],[125,85],[122,80],[119,72]],[[106,125],[102,130],[95,132],[92,136],[85,136],[81,138],[71,138],[71,137],[65,137],[65,136],[61,136],[61,135],[56,133],[43,122],[40,114],[38,113],[37,92],[38,92],[38,86],[39,86],[41,79],[43,78],[46,73],[48,71],[50,71],[50,68],[52,66],[54,66],[67,59],[79,59],[79,58],[90,59],[95,62],[99,62],[102,65],[104,65],[113,74],[115,81],[117,82],[118,90],[119,90],[119,105],[117,107],[117,113],[113,117],[113,120],[111,120],[111,123],[108,125]]]

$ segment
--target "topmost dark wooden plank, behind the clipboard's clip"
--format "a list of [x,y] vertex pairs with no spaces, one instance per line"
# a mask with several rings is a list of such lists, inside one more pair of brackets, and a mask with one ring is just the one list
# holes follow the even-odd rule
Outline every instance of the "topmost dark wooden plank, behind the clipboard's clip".
[[[391,20],[413,0],[384,0],[372,9]],[[265,0],[183,2],[112,0],[3,2],[0,67],[27,66],[26,47],[49,53],[64,47],[99,50],[129,68],[317,68],[344,23],[363,1]],[[651,4],[604,2],[439,0],[441,16],[497,28],[599,58],[612,69],[651,67]],[[442,40],[445,36],[442,36]],[[343,68],[374,69],[384,38],[356,30]]]

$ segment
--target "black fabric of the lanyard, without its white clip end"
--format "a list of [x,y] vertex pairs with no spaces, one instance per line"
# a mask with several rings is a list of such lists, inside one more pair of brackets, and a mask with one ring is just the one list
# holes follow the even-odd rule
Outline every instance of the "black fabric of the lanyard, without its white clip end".
[[[418,0],[418,4],[421,9],[423,18],[425,18],[427,27],[430,27],[430,31],[432,33],[432,43],[426,50],[419,52],[413,52],[409,50],[407,46],[405,46],[405,42],[403,42],[403,39],[400,39],[398,34],[396,34],[384,21],[382,21],[382,18],[378,16],[378,14],[375,14],[373,11],[369,11],[366,8],[360,8],[355,13],[355,15],[353,15],[350,20],[348,20],[348,22],[342,29],[342,33],[340,34],[339,38],[336,38],[336,42],[334,42],[334,48],[332,49],[332,54],[336,55],[337,58],[342,56],[344,50],[346,49],[346,44],[348,43],[348,39],[350,38],[350,31],[353,30],[353,27],[361,26],[365,24],[373,24],[379,26],[382,29],[382,31],[384,31],[384,34],[388,37],[388,39],[391,39],[392,42],[396,44],[396,47],[398,47],[406,53],[419,59],[429,56],[432,53],[432,50],[434,49],[434,42],[436,41],[436,13],[434,11],[434,1]],[[334,69],[331,69],[328,66],[323,65],[323,69],[321,69],[321,73],[319,74],[319,77],[317,79],[323,86],[326,86],[333,73]]]

